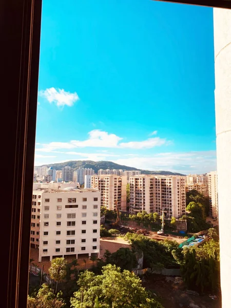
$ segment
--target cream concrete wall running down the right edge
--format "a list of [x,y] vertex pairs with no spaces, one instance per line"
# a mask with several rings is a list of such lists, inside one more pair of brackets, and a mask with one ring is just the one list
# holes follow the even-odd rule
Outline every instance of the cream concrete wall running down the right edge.
[[214,9],[215,110],[222,307],[230,307],[231,10]]

